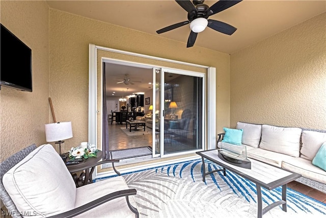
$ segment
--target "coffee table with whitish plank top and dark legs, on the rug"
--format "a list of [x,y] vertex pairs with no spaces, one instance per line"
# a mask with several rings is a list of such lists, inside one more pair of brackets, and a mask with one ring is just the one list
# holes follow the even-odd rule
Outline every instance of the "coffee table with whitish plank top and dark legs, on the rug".
[[[296,174],[286,169],[282,169],[277,166],[263,163],[261,161],[250,159],[251,169],[242,168],[239,166],[232,165],[223,161],[218,156],[218,150],[208,150],[203,152],[196,152],[196,154],[202,157],[203,161],[203,182],[205,182],[205,176],[214,172],[223,171],[224,176],[226,176],[226,169],[229,171],[246,178],[256,184],[257,189],[257,203],[258,203],[258,214],[257,217],[261,218],[263,214],[268,212],[270,209],[282,205],[282,210],[286,212],[286,187],[287,183],[300,178],[300,174]],[[207,172],[205,171],[204,158],[212,161],[213,163],[219,164],[223,169],[217,169],[215,171]],[[261,198],[261,186],[272,190],[279,186],[282,186],[282,200],[274,202],[265,208],[262,208],[262,198]]]

